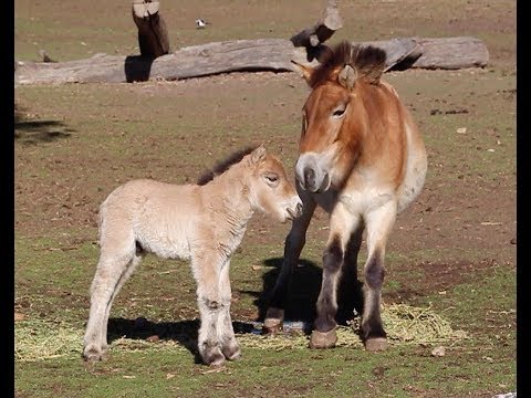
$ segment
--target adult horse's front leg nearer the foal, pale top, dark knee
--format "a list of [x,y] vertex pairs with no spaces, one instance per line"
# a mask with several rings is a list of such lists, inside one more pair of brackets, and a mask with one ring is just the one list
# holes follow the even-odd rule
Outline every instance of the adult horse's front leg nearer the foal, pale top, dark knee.
[[323,253],[323,281],[317,298],[317,316],[310,339],[311,348],[331,348],[337,341],[335,316],[337,313],[337,284],[340,271],[352,231],[357,230],[360,217],[352,214],[337,202],[330,216],[330,234]]

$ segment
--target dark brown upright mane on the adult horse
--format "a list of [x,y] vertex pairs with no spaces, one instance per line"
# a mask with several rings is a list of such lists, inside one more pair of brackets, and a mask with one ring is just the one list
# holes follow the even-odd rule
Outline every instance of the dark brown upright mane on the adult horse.
[[323,54],[321,64],[312,74],[310,86],[330,80],[332,72],[344,65],[352,65],[357,72],[357,78],[366,83],[376,84],[384,73],[387,54],[384,50],[373,45],[353,45],[346,40]]

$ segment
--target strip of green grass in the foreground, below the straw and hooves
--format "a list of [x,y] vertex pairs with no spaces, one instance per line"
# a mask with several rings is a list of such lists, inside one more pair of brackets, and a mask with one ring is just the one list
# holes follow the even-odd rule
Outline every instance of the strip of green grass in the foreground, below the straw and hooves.
[[514,368],[466,353],[456,357],[451,349],[445,357],[433,357],[429,350],[247,348],[241,360],[220,369],[195,364],[190,353],[183,350],[113,352],[95,366],[81,358],[18,363],[15,389],[32,397],[413,397],[437,396],[442,388],[445,396],[459,397],[514,390],[516,380],[508,376]]

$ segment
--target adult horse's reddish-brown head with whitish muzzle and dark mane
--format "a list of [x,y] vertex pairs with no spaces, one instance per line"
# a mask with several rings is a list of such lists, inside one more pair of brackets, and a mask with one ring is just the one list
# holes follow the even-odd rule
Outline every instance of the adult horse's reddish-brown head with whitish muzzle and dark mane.
[[312,192],[341,187],[363,139],[363,84],[377,84],[385,52],[340,43],[316,67],[293,62],[312,88],[302,108],[296,180]]

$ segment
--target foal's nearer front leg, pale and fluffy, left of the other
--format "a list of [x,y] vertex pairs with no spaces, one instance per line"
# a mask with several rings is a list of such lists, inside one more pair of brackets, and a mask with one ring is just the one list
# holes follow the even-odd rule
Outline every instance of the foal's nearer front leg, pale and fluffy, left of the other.
[[197,282],[197,304],[201,325],[197,338],[199,355],[207,365],[218,366],[225,363],[221,344],[218,337],[218,320],[223,308],[223,300],[219,291],[221,264],[216,253],[194,256],[192,271]]

